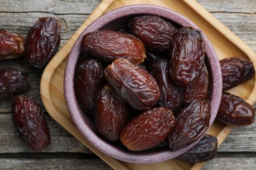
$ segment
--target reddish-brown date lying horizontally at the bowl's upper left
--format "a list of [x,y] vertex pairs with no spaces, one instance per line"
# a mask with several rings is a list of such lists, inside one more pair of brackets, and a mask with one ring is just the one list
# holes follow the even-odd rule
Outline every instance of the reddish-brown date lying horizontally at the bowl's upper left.
[[140,64],[146,58],[144,44],[127,33],[100,30],[87,33],[81,41],[81,50],[89,52],[107,63],[124,58]]

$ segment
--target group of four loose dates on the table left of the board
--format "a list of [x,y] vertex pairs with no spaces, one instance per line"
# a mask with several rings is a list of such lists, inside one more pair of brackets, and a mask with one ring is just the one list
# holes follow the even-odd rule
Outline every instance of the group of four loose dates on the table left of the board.
[[[60,44],[60,21],[39,18],[26,39],[17,33],[0,29],[0,59],[24,58],[28,67],[44,69]],[[12,99],[12,118],[22,139],[34,151],[51,143],[49,128],[39,104],[24,95],[31,88],[27,73],[18,69],[0,69],[0,99]]]

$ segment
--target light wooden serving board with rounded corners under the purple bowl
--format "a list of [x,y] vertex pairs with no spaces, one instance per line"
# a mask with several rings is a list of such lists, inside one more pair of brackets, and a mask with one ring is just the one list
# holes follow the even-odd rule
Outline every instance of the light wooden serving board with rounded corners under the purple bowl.
[[[64,99],[63,80],[64,69],[66,65],[67,56],[81,32],[93,22],[96,18],[118,7],[133,4],[151,4],[165,7],[179,12],[183,16],[192,20],[200,29],[207,35],[213,44],[219,59],[230,56],[237,56],[241,58],[249,58],[254,63],[256,68],[256,55],[244,42],[242,42],[232,31],[225,27],[219,20],[214,18],[207,10],[203,9],[195,0],[103,0],[95,11],[85,20],[85,22],[72,35],[70,40],[64,44],[62,49],[54,56],[49,65],[45,68],[41,77],[41,99],[45,105],[47,112],[64,128],[66,128],[79,141],[85,144],[102,160],[106,161],[108,165],[114,169],[200,169],[203,163],[183,163],[177,160],[168,160],[160,163],[152,164],[135,164],[127,163],[114,158],[110,158],[92,146],[87,139],[83,138],[81,133],[75,127]],[[255,77],[241,84],[240,86],[229,90],[244,98],[248,103],[253,104],[256,99]],[[218,138],[219,145],[224,141],[228,134],[232,131],[233,126],[226,126],[221,122],[215,120],[208,133],[215,135]]]

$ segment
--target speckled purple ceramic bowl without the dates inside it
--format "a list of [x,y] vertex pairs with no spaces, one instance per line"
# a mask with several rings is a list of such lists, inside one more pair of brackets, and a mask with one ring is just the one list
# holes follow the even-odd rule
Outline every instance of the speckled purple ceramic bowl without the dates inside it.
[[[157,7],[153,5],[131,5],[126,7],[121,7],[116,10],[112,10],[97,20],[90,24],[81,35],[78,37],[77,41],[68,56],[68,61],[66,63],[66,69],[64,73],[64,95],[66,99],[66,104],[68,106],[68,111],[72,116],[77,129],[81,132],[83,137],[87,139],[95,148],[104,152],[112,158],[116,158],[121,161],[128,161],[132,163],[156,163],[160,161],[170,160],[179,156],[180,154],[186,152],[196,143],[192,143],[180,150],[171,151],[169,149],[161,150],[147,150],[144,152],[131,152],[125,148],[125,146],[120,146],[118,144],[108,143],[102,140],[95,130],[94,122],[91,121],[87,115],[84,114],[83,110],[79,107],[77,99],[75,97],[74,90],[74,73],[77,64],[77,59],[79,58],[79,53],[81,50],[80,43],[83,35],[91,31],[96,31],[98,29],[112,29],[118,30],[127,26],[129,18],[134,16],[139,16],[143,14],[158,15],[165,20],[172,22],[177,25],[177,27],[188,26],[198,28],[190,20],[181,16],[177,12],[165,9],[163,7]],[[205,36],[205,35],[204,35]],[[205,37],[206,46],[206,63],[207,69],[209,71],[209,101],[211,102],[211,120],[210,126],[215,120],[217,110],[219,109],[219,104],[221,101],[222,94],[222,78],[221,78],[221,67],[219,65],[219,60],[215,54],[213,46]]]

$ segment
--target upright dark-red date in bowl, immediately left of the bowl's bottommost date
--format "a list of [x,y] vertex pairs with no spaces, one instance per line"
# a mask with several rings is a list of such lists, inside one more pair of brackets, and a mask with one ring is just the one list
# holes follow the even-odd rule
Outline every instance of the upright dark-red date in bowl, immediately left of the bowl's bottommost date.
[[119,141],[120,133],[129,120],[129,107],[125,101],[106,85],[96,99],[95,124],[100,136],[106,141]]

